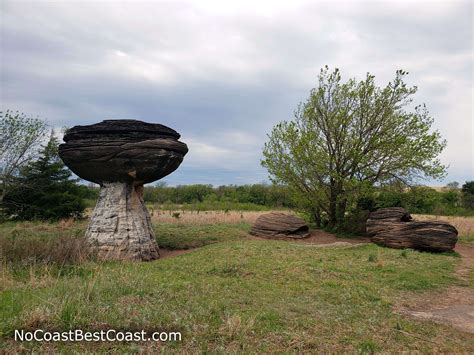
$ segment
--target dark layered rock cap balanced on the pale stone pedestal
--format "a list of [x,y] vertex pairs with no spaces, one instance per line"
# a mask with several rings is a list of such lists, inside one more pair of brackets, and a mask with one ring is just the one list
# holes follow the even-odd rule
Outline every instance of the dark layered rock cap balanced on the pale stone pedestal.
[[160,124],[105,120],[75,126],[59,146],[64,163],[85,180],[146,184],[172,173],[188,152],[180,135]]

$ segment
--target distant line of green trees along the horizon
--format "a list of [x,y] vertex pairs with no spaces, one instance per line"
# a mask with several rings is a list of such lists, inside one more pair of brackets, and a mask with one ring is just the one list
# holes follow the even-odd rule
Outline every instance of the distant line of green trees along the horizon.
[[[89,188],[87,198],[94,200],[98,189]],[[83,191],[83,195],[86,195]],[[147,204],[161,209],[194,210],[265,210],[272,208],[298,208],[288,187],[282,185],[180,185],[176,187],[158,183],[145,186]],[[358,210],[375,210],[383,207],[404,207],[411,213],[438,215],[474,215],[474,182],[462,187],[450,183],[443,188],[427,186],[404,188],[388,186],[377,188],[359,199]]]

